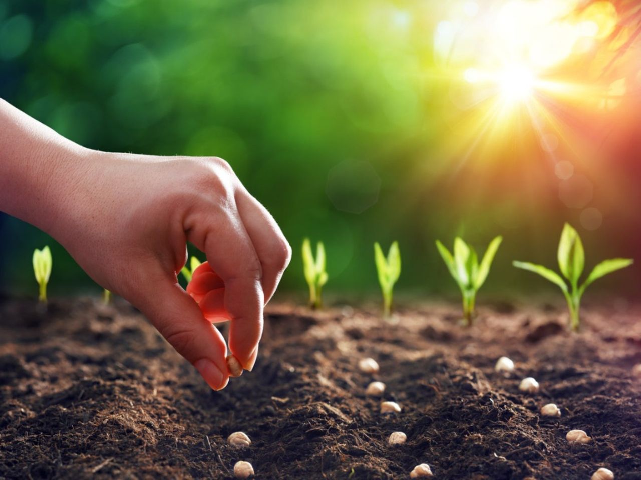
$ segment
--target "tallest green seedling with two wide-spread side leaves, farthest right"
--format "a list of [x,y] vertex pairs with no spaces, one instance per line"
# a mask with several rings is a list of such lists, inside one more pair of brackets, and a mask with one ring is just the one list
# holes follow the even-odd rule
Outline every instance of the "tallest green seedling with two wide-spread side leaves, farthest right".
[[527,262],[513,262],[512,264],[516,268],[538,273],[538,275],[545,278],[545,280],[549,280],[561,289],[570,310],[570,328],[572,328],[572,331],[577,332],[579,330],[580,323],[579,308],[581,307],[581,297],[583,296],[585,289],[587,289],[594,280],[597,280],[602,276],[606,276],[608,273],[630,266],[633,264],[633,260],[604,260],[594,267],[592,273],[588,275],[585,282],[579,286],[579,278],[581,278],[581,274],[583,273],[583,268],[585,266],[585,252],[583,251],[581,237],[579,237],[577,231],[568,223],[563,227],[557,257],[559,269],[567,282],[565,282],[558,273],[540,265]]

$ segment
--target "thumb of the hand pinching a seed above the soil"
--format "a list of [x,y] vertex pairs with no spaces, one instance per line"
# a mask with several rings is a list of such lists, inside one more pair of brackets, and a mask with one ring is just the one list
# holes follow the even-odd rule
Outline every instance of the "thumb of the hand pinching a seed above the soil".
[[204,319],[196,302],[178,284],[176,276],[171,277],[165,273],[148,275],[147,278],[160,280],[144,282],[144,287],[130,301],[165,340],[196,367],[213,390],[222,390],[229,381],[225,340],[221,332]]

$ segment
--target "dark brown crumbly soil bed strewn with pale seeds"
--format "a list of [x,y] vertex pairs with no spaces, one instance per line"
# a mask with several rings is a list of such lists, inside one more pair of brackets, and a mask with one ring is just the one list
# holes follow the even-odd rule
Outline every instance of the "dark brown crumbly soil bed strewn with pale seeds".
[[[0,478],[227,479],[246,460],[260,479],[407,479],[419,463],[435,479],[641,479],[638,307],[586,308],[579,334],[553,307],[496,305],[467,329],[438,304],[393,326],[374,307],[268,312],[254,371],[212,392],[124,303],[0,301]],[[504,355],[512,374],[494,372]],[[519,392],[527,376],[538,394]],[[593,441],[568,444],[572,429]],[[251,447],[229,447],[234,431]]]

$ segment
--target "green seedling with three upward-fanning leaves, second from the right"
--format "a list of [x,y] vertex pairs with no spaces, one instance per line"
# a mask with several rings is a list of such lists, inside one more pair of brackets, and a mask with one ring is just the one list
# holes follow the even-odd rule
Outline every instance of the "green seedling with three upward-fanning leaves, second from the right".
[[450,275],[456,281],[463,295],[463,321],[465,326],[470,326],[474,319],[474,305],[476,304],[476,292],[485,283],[490,266],[494,260],[503,237],[496,237],[488,246],[483,260],[479,264],[478,255],[474,248],[466,244],[462,239],[454,239],[454,255],[437,240],[438,253],[440,253]]

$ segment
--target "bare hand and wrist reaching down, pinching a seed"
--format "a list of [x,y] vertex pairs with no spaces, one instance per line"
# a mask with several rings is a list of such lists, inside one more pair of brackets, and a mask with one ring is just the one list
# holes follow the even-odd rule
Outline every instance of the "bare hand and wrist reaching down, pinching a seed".
[[89,150],[0,99],[0,211],[56,239],[221,390],[226,342],[177,280],[194,244],[224,280],[229,351],[253,369],[291,248],[222,159]]

